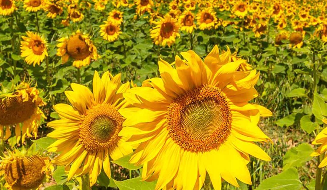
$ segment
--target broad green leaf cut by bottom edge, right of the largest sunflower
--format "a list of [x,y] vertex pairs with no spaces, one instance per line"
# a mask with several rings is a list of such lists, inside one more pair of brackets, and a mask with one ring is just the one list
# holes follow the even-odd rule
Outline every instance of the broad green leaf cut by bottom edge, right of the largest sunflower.
[[302,188],[298,170],[289,168],[261,182],[255,190],[298,190]]

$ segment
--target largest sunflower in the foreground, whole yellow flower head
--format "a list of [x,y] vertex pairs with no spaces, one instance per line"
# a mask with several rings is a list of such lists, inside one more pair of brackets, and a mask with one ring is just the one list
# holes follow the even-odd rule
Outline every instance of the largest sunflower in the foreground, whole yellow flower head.
[[206,173],[216,190],[221,179],[251,184],[249,154],[270,160],[253,143],[269,140],[257,124],[271,112],[248,103],[259,73],[237,71],[244,60],[231,62],[230,54],[215,46],[204,61],[193,51],[175,64],[160,60],[161,78],[124,93],[134,107],[120,110],[129,126],[120,134],[141,142],[130,162],[144,164],[143,180],[158,179],[155,189],[201,189]]

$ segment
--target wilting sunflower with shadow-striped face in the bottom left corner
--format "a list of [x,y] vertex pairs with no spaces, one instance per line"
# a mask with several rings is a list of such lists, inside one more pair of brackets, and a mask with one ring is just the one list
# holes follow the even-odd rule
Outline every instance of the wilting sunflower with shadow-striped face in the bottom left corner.
[[50,179],[54,167],[50,158],[34,151],[34,146],[28,150],[8,151],[0,159],[0,177],[9,190],[37,189],[42,183]]

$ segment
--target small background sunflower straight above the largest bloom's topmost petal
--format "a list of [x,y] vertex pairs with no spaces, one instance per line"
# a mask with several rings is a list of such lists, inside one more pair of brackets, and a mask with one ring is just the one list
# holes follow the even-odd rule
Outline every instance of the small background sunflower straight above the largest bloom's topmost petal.
[[202,9],[197,14],[197,24],[200,30],[211,29],[215,26],[217,18],[212,9]]

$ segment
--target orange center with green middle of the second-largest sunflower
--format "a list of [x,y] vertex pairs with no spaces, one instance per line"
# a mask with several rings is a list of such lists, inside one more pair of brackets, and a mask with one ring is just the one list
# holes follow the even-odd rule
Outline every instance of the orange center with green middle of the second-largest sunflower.
[[79,141],[89,151],[113,149],[120,137],[123,116],[114,107],[104,104],[89,110],[80,125]]

